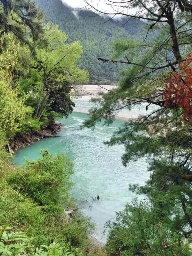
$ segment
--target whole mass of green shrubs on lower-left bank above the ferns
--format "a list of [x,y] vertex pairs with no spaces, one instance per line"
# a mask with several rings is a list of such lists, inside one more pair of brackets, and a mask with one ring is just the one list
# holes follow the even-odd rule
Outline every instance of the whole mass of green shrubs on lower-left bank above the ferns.
[[[0,185],[0,225],[10,223],[17,230],[38,238],[38,245],[52,240],[74,247],[86,248],[87,233],[93,224],[80,213],[74,218],[64,209],[74,207],[70,196],[73,164],[64,155],[53,157],[47,150],[37,161],[26,160],[25,167],[17,167]],[[8,174],[8,173],[7,173]]]

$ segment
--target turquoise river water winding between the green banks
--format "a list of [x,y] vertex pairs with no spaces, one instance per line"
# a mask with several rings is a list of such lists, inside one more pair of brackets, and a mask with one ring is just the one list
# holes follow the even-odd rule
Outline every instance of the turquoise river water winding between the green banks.
[[[61,120],[64,129],[56,137],[19,149],[13,162],[22,165],[25,158],[36,160],[40,156],[40,149],[48,149],[53,155],[58,152],[70,155],[75,168],[72,195],[78,199],[81,211],[95,222],[95,235],[104,241],[103,224],[114,218],[115,211],[123,209],[125,203],[131,202],[136,196],[129,191],[129,183],[144,184],[149,173],[147,163],[142,159],[130,163],[128,167],[122,165],[124,146],[104,145],[103,141],[110,138],[123,124],[122,121],[116,120],[110,127],[98,124],[94,131],[80,130],[79,125],[86,118],[86,114],[73,112],[67,119]],[[97,195],[100,200],[92,202],[91,196]]]

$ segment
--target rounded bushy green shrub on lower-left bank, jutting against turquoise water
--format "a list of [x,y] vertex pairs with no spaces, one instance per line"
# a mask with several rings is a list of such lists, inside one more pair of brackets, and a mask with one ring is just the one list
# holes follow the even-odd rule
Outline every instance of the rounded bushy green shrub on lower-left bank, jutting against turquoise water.
[[70,204],[72,161],[62,154],[54,158],[47,150],[42,151],[41,155],[38,161],[26,160],[25,167],[9,177],[9,184],[41,206],[55,208],[58,204]]

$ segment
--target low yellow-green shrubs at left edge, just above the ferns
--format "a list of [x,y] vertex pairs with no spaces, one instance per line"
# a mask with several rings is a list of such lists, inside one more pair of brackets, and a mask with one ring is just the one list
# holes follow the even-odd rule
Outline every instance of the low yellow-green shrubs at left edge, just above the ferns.
[[5,181],[0,185],[0,225],[10,223],[15,230],[41,234],[46,215],[40,206],[25,195],[14,191]]

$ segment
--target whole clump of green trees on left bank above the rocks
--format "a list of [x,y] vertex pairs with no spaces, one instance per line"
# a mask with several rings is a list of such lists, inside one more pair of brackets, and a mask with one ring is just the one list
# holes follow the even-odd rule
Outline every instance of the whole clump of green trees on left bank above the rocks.
[[15,26],[2,27],[0,38],[0,126],[12,139],[45,127],[54,116],[67,117],[74,107],[72,84],[85,82],[88,72],[76,67],[79,42],[67,44],[58,26],[42,26],[44,14],[33,2],[5,1],[1,8],[7,17],[2,26]]

